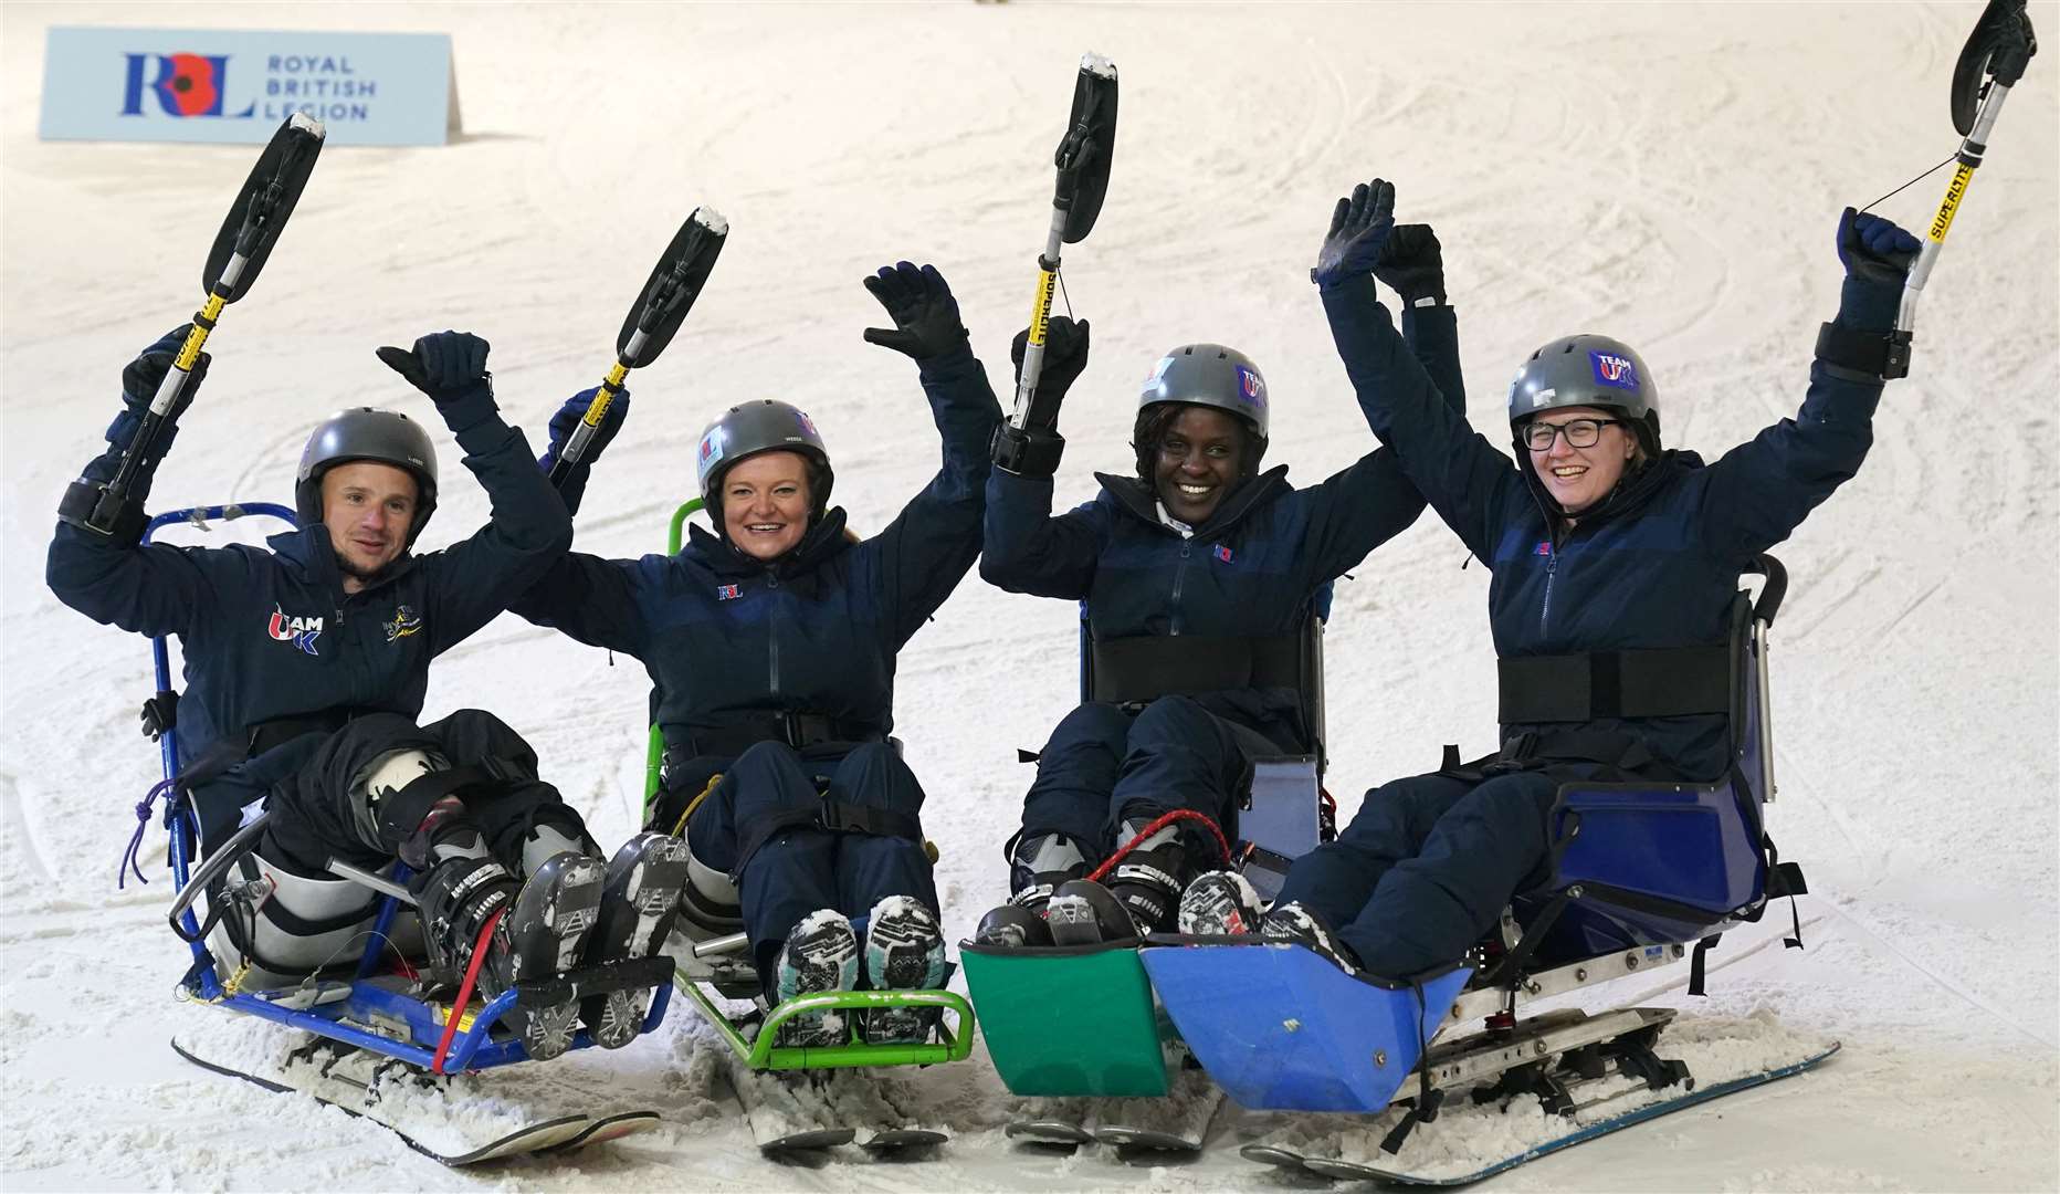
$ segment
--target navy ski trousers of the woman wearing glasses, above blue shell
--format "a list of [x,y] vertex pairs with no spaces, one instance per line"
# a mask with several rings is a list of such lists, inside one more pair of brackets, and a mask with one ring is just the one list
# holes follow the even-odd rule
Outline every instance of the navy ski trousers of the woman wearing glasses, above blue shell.
[[1337,841],[1294,862],[1275,905],[1316,909],[1376,975],[1452,965],[1512,895],[1551,878],[1553,798],[1586,771],[1599,767],[1382,784]]

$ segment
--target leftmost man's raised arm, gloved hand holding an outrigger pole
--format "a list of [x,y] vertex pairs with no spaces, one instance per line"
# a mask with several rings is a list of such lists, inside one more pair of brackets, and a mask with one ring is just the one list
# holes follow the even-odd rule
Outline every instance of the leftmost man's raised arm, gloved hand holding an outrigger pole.
[[[87,462],[80,480],[105,483],[113,478],[122,464],[122,450],[134,437],[157,386],[171,369],[187,328],[190,324],[175,328],[122,369],[122,412],[107,427],[107,450]],[[194,400],[208,375],[208,353],[202,353],[194,363],[192,379],[179,394],[173,419]],[[163,431],[154,452],[140,462],[132,487],[138,503],[148,501],[157,466],[177,435],[179,427],[173,423]],[[190,625],[194,608],[208,594],[204,555],[227,559],[225,553],[198,553],[167,544],[146,546],[136,538],[105,536],[60,522],[49,540],[43,577],[58,600],[97,623],[144,635],[169,635],[181,633]]]

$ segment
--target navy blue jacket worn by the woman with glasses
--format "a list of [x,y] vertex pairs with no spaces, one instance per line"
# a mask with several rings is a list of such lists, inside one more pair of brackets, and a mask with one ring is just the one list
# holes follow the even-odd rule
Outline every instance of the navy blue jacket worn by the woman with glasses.
[[[1403,349],[1372,278],[1323,293],[1345,373],[1374,435],[1458,538],[1487,563],[1502,658],[1722,645],[1739,573],[1850,478],[1873,443],[1881,382],[1811,365],[1794,419],[1704,464],[1664,452],[1568,530],[1522,466],[1473,431]],[[1893,311],[1893,297],[1887,305]],[[1720,716],[1605,720],[1685,777],[1722,775]],[[1504,742],[1545,726],[1504,726]]]

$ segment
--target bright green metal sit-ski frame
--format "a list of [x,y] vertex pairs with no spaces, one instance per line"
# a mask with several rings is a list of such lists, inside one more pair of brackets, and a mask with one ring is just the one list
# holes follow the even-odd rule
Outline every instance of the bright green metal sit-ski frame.
[[[688,499],[680,509],[672,511],[672,524],[665,534],[665,553],[680,555],[680,540],[686,534],[686,520],[700,509],[700,499]],[[659,765],[665,761],[665,738],[659,734],[657,726],[651,726],[651,740],[645,751],[645,819],[651,817],[651,804],[657,800],[659,790]],[[680,938],[674,938],[674,947]],[[674,949],[674,969],[680,975],[680,990],[694,1000],[709,1023],[723,1033],[729,1048],[737,1052],[754,1070],[834,1070],[851,1066],[933,1066],[937,1062],[958,1062],[972,1052],[972,1004],[964,996],[948,990],[840,990],[840,992],[820,992],[795,996],[781,1002],[766,1013],[764,1021],[758,1025],[756,1037],[746,1037],[744,1029],[731,1021],[721,1006],[717,1006],[717,994],[729,994],[731,998],[748,998],[756,994],[758,980],[750,965],[731,965],[727,973],[719,971],[719,959],[700,959],[692,955],[692,949]],[[727,980],[727,982],[725,982]],[[711,994],[711,988],[713,994]],[[748,992],[748,994],[746,994]],[[843,1046],[822,1046],[822,1048],[795,1048],[795,1046],[775,1046],[779,1039],[779,1027],[793,1017],[808,1013],[826,1010],[863,1010],[863,1008],[939,1008],[937,1017],[937,1041],[925,1043],[900,1043],[900,1046],[871,1046],[859,1039],[857,1019],[847,1017],[847,1043]],[[958,1015],[958,1031],[952,1031],[943,1023],[943,1010]]]

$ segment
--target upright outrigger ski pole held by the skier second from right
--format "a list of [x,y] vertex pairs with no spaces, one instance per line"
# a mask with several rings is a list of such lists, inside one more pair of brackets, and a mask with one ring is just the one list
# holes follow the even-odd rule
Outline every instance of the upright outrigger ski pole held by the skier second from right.
[[[1088,239],[1094,219],[1102,214],[1102,198],[1108,194],[1108,163],[1117,148],[1117,64],[1100,54],[1079,58],[1079,76],[1073,80],[1073,111],[1067,118],[1065,138],[1053,155],[1059,167],[1059,181],[1051,196],[1051,231],[1044,235],[1044,252],[1036,258],[1036,305],[1030,307],[1030,336],[1024,344],[1022,377],[1016,382],[1016,410],[1007,427],[1022,433],[1040,429],[1036,437],[995,435],[995,450],[1016,456],[1003,464],[1011,472],[1026,464],[1032,454],[1059,452],[1063,439],[1053,429],[1059,412],[1051,402],[1038,402],[1036,379],[1044,371],[1044,332],[1051,326],[1051,293],[1059,280],[1059,250]],[[997,462],[1001,458],[997,456]],[[1053,458],[1057,462],[1057,458]]]

